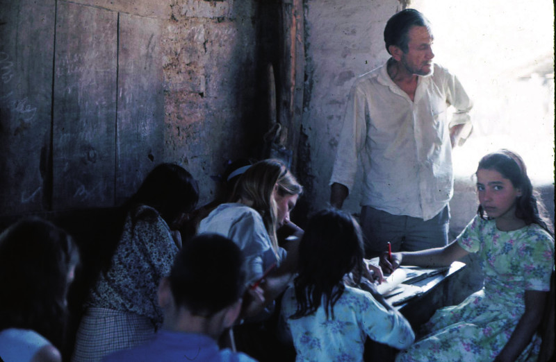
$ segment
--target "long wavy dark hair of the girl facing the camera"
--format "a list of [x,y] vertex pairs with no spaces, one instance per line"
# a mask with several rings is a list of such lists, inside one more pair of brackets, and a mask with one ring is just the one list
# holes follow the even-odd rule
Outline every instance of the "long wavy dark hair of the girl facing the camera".
[[[516,216],[525,221],[525,224],[538,224],[554,235],[550,221],[543,215],[544,207],[542,202],[537,200],[537,193],[533,190],[525,163],[517,153],[505,149],[489,153],[480,160],[477,171],[480,169],[498,171],[512,182],[515,188],[521,189],[521,196],[516,201]],[[477,214],[485,218],[482,205],[479,205]]]

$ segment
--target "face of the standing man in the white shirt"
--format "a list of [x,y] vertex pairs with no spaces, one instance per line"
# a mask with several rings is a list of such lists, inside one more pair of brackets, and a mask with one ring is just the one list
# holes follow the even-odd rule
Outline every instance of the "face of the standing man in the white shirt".
[[413,26],[407,33],[407,53],[402,52],[400,62],[411,74],[427,76],[432,72],[432,41],[434,37],[425,26]]

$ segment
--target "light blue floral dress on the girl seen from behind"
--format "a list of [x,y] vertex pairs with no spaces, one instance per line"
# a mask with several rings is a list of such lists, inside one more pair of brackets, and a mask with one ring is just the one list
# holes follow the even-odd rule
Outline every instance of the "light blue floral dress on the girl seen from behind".
[[398,311],[387,311],[367,291],[345,286],[327,318],[323,304],[316,312],[299,319],[288,318],[297,310],[295,290],[282,298],[281,313],[291,330],[295,361],[363,361],[367,336],[398,349],[415,339],[409,322]]

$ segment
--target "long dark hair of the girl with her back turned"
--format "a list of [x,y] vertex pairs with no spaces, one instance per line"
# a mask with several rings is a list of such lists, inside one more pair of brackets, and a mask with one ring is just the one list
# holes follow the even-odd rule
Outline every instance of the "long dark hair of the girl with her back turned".
[[334,304],[345,290],[343,277],[353,272],[359,284],[363,256],[361,228],[350,214],[325,209],[311,216],[300,241],[294,280],[297,311],[290,318],[308,316],[324,302],[327,318],[331,311],[334,319]]

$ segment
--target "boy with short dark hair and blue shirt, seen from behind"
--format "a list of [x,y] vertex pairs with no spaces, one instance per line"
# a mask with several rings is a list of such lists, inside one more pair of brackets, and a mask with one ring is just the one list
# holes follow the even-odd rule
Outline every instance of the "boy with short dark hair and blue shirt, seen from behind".
[[108,355],[104,361],[254,361],[218,349],[218,338],[241,309],[243,255],[224,236],[200,234],[183,245],[170,277],[161,280],[164,322],[152,341]]

